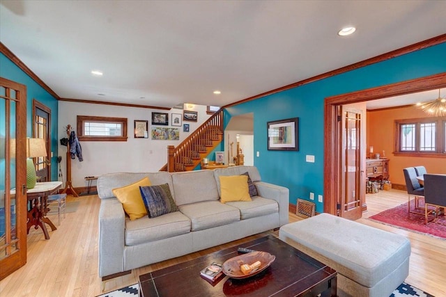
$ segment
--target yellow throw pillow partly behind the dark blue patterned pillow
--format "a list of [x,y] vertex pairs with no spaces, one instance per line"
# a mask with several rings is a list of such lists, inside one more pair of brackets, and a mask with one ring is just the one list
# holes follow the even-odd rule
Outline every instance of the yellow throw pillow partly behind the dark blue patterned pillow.
[[148,177],[144,177],[144,179],[134,184],[112,190],[116,198],[123,204],[124,211],[130,216],[130,220],[142,218],[147,214],[146,206],[141,197],[141,191],[139,191],[140,186],[151,186],[151,181]]

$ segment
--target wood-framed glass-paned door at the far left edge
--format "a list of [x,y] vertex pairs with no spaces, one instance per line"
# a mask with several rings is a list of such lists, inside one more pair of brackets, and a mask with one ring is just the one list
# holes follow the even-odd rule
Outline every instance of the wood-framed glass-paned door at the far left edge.
[[26,87],[0,78],[0,280],[26,263]]

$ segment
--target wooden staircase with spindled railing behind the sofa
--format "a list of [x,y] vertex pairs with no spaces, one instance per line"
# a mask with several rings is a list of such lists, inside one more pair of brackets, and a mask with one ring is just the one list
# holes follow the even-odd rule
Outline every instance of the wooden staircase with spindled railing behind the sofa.
[[160,171],[194,170],[223,141],[223,110],[213,114],[180,145],[167,147],[167,164]]

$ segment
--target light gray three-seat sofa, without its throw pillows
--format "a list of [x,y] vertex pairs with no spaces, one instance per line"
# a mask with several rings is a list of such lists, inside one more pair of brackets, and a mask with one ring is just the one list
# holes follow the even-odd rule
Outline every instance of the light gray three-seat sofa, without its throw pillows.
[[[258,196],[220,202],[220,175],[249,173]],[[169,184],[179,211],[130,220],[112,189],[148,177]],[[254,166],[188,172],[110,173],[98,178],[99,275],[103,280],[289,223],[289,189],[261,182]]]

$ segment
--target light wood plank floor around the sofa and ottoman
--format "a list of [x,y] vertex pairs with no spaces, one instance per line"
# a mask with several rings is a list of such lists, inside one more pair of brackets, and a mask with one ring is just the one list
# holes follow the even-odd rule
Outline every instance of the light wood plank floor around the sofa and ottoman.
[[[97,196],[68,197],[79,200],[79,209],[66,214],[61,225],[51,238],[45,240],[40,229],[31,229],[28,235],[27,264],[0,282],[0,296],[98,296],[102,294],[98,277],[98,213],[100,200]],[[407,201],[406,192],[380,191],[367,194],[369,210],[358,220],[390,232],[403,234],[410,239],[410,273],[406,282],[434,296],[446,296],[446,241],[430,236],[400,230],[367,220],[369,216]],[[52,216],[52,221],[57,218]],[[300,220],[290,214],[290,222]],[[265,232],[240,241],[194,252],[190,255],[135,269],[131,275],[115,278],[105,283],[105,292],[134,284],[138,275],[159,268],[187,261],[209,252],[236,246],[266,234],[277,236],[278,232]]]

